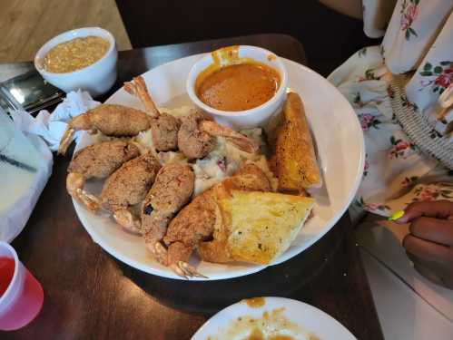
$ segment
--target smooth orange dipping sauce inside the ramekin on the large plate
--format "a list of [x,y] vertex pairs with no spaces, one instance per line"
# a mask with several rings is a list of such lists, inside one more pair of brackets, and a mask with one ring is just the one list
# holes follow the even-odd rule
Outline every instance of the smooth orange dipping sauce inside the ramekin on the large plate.
[[264,63],[223,66],[197,79],[198,98],[214,109],[249,110],[268,102],[279,90],[280,74]]

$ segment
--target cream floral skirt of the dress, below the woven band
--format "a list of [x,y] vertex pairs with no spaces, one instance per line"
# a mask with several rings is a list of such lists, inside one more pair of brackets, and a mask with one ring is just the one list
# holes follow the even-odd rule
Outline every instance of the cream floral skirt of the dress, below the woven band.
[[[419,151],[393,115],[392,77],[379,46],[355,53],[329,77],[357,113],[365,138],[365,169],[352,219],[363,210],[388,217],[413,201],[453,200],[453,171]],[[405,97],[403,105],[416,106]]]

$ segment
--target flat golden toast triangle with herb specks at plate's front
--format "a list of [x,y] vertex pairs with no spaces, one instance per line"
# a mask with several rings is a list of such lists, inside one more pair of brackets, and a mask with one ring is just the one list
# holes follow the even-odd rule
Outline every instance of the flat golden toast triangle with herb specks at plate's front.
[[290,248],[314,199],[275,192],[231,190],[218,201],[231,259],[270,264]]

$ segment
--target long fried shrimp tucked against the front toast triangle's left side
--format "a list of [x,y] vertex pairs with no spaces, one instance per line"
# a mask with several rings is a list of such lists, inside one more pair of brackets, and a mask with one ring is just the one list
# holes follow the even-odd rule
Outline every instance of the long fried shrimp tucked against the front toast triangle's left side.
[[202,277],[187,261],[194,248],[212,238],[220,220],[217,199],[228,196],[231,189],[269,191],[271,182],[257,165],[248,163],[232,177],[195,197],[172,219],[163,238],[166,248],[158,246],[157,250],[162,262],[179,276]]

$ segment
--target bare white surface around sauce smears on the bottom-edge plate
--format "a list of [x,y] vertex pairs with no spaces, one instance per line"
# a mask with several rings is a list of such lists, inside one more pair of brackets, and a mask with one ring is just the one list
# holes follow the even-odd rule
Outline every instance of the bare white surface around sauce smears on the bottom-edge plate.
[[[272,316],[273,313],[277,312],[279,313],[278,316],[296,324],[297,327],[294,327],[295,329],[288,327],[284,331],[281,330],[281,335],[291,335],[296,340],[356,339],[337,320],[314,306],[283,297],[264,297],[264,301],[265,304],[261,307],[251,307],[246,301],[226,307],[202,325],[197,333],[192,336],[192,340],[206,340],[209,336],[211,336],[212,340],[244,339],[247,335],[250,335],[252,327],[238,326],[238,317],[241,317],[242,322],[249,322],[250,317],[255,320],[262,319],[265,312],[268,313],[268,316]],[[273,326],[275,327],[276,325],[274,324]],[[232,328],[234,328],[234,335],[229,333]],[[276,328],[279,329],[280,327],[277,326]],[[310,337],[310,335],[314,336]]]

